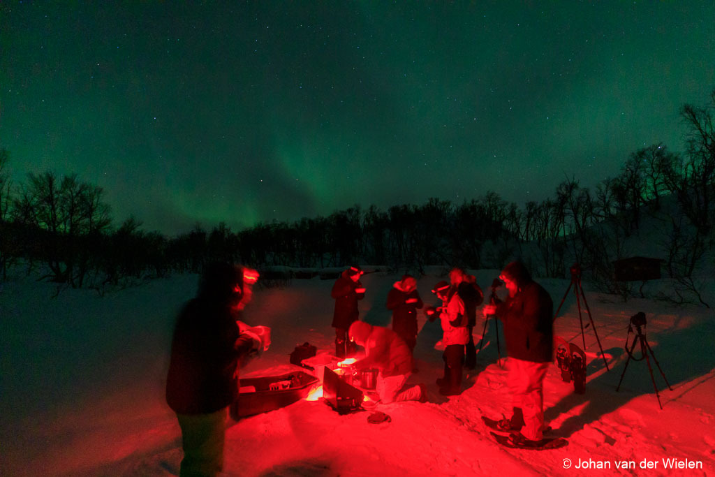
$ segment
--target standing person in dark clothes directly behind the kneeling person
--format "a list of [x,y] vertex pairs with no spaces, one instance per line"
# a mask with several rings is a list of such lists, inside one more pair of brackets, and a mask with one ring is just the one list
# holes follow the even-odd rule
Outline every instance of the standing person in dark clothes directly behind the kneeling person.
[[332,285],[330,296],[335,298],[335,312],[332,314],[332,327],[335,328],[335,356],[345,358],[355,353],[355,345],[347,340],[347,329],[358,320],[358,300],[365,297],[365,288],[360,283],[363,270],[352,266],[342,272]]

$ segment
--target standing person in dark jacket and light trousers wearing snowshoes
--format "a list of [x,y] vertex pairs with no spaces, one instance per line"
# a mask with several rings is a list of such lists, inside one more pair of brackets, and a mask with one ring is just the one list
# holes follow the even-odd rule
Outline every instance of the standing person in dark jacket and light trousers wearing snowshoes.
[[512,438],[528,444],[543,438],[543,378],[553,359],[553,302],[521,262],[506,265],[499,278],[509,297],[486,305],[483,313],[503,321],[509,356],[513,415],[500,426],[521,430]]

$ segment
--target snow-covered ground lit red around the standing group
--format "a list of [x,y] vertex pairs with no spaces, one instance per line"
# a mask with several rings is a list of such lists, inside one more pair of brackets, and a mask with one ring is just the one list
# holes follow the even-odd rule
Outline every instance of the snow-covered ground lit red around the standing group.
[[[443,278],[437,275],[418,281],[425,303],[437,301],[430,293]],[[475,275],[488,290],[498,270]],[[397,278],[365,275],[363,320],[390,323],[385,300]],[[64,290],[54,299],[54,285],[30,278],[0,285],[0,475],[177,475],[181,438],[164,402],[164,379],[172,322],[194,295],[196,281],[195,275],[178,275],[104,297],[92,290]],[[551,292],[556,308],[570,282],[538,281]],[[243,377],[300,369],[289,364],[289,354],[305,341],[319,353],[333,349],[330,287],[332,280],[315,277],[256,293],[247,322],[272,327],[272,346]],[[715,281],[708,290],[706,300],[715,303]],[[586,394],[574,394],[556,366],[549,370],[546,419],[553,435],[568,438],[565,448],[510,450],[495,443],[483,426],[481,415],[508,411],[506,369],[497,364],[493,329],[478,368],[465,375],[463,393],[440,396],[434,383],[443,368],[442,353],[435,349],[440,330],[420,314],[419,373],[410,381],[428,385],[428,403],[378,405],[391,417],[380,424],[368,423],[368,412],[339,415],[320,400],[245,418],[227,431],[226,474],[715,475],[712,310],[652,300],[623,303],[588,287],[586,297],[611,370],[598,355],[591,326],[585,330]],[[640,311],[648,321],[646,337],[673,387],[668,389],[654,367],[663,410],[645,361],[631,361],[616,393],[628,321]],[[585,313],[583,323],[589,323]],[[481,321],[475,327],[477,340],[482,327]],[[571,293],[556,320],[556,334],[582,345]],[[667,468],[674,460],[697,468]],[[634,468],[618,468],[623,464]]]

